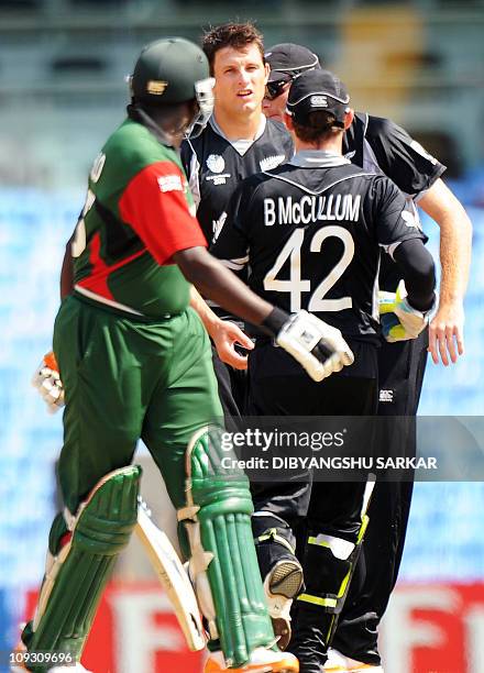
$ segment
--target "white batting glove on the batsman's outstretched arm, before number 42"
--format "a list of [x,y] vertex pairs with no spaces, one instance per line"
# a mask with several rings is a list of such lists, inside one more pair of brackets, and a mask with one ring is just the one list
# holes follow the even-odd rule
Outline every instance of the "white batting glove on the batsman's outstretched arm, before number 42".
[[290,316],[278,332],[276,343],[293,355],[314,380],[322,380],[354,362],[353,352],[340,330],[307,311]]

